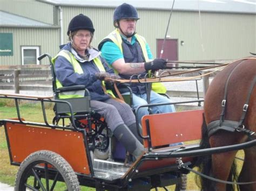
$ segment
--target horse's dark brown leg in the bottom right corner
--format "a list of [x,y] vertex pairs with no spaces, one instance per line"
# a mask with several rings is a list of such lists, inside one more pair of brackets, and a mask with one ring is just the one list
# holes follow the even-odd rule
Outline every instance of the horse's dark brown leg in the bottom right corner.
[[[256,181],[256,146],[245,150],[245,160],[239,175],[239,182]],[[240,190],[256,190],[256,183],[250,185],[239,185]]]

